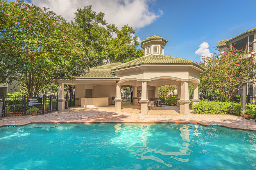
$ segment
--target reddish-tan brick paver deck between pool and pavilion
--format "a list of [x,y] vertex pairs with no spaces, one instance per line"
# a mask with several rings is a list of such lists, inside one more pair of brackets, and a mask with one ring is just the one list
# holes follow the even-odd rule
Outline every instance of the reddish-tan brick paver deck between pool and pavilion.
[[206,126],[224,126],[256,131],[253,119],[221,114],[137,114],[115,110],[86,110],[70,108],[37,116],[14,116],[0,120],[0,126],[20,126],[29,123],[199,123]]

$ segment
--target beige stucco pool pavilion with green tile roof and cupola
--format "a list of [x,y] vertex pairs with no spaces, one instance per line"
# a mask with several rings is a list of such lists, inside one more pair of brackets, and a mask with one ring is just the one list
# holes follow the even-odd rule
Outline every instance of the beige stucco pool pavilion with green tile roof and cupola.
[[[73,83],[70,78],[55,79],[59,84],[59,110],[64,110],[64,84],[75,86],[76,106],[85,108],[115,105],[122,108],[121,87],[131,87],[133,104],[137,105],[137,91],[141,92],[141,114],[148,113],[150,98],[158,98],[158,87],[177,85],[177,107],[180,114],[189,113],[189,86],[194,84],[193,103],[198,99],[200,73],[205,69],[194,61],[164,55],[167,40],[150,36],[142,41],[144,56],[127,63],[111,63],[90,68],[86,75],[77,75]],[[113,100],[114,99],[114,100]]]

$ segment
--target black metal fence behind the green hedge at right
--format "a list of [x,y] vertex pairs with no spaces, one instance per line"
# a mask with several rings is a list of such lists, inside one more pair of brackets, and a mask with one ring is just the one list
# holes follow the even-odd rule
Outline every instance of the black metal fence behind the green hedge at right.
[[[233,101],[235,103],[241,102],[241,96],[239,95],[232,95],[230,96],[223,96],[223,95],[199,95],[200,100],[209,100],[209,101]],[[256,104],[256,95],[249,96],[246,95],[246,104]]]

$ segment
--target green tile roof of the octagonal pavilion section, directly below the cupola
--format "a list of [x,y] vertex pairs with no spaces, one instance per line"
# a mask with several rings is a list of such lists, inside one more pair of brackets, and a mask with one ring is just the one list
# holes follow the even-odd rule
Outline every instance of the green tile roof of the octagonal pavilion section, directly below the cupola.
[[142,64],[192,64],[192,63],[195,64],[195,62],[191,60],[167,56],[163,54],[160,54],[160,55],[151,54],[149,56],[143,56],[135,60],[132,60],[130,62],[120,64],[116,67],[113,67],[111,70],[113,71],[113,70],[123,69],[127,67],[142,65]]

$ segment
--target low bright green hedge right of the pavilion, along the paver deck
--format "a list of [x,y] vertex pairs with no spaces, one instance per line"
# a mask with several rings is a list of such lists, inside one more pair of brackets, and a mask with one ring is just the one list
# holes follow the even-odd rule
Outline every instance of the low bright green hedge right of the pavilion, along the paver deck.
[[220,101],[200,101],[192,106],[194,114],[228,114],[241,113],[241,104]]

